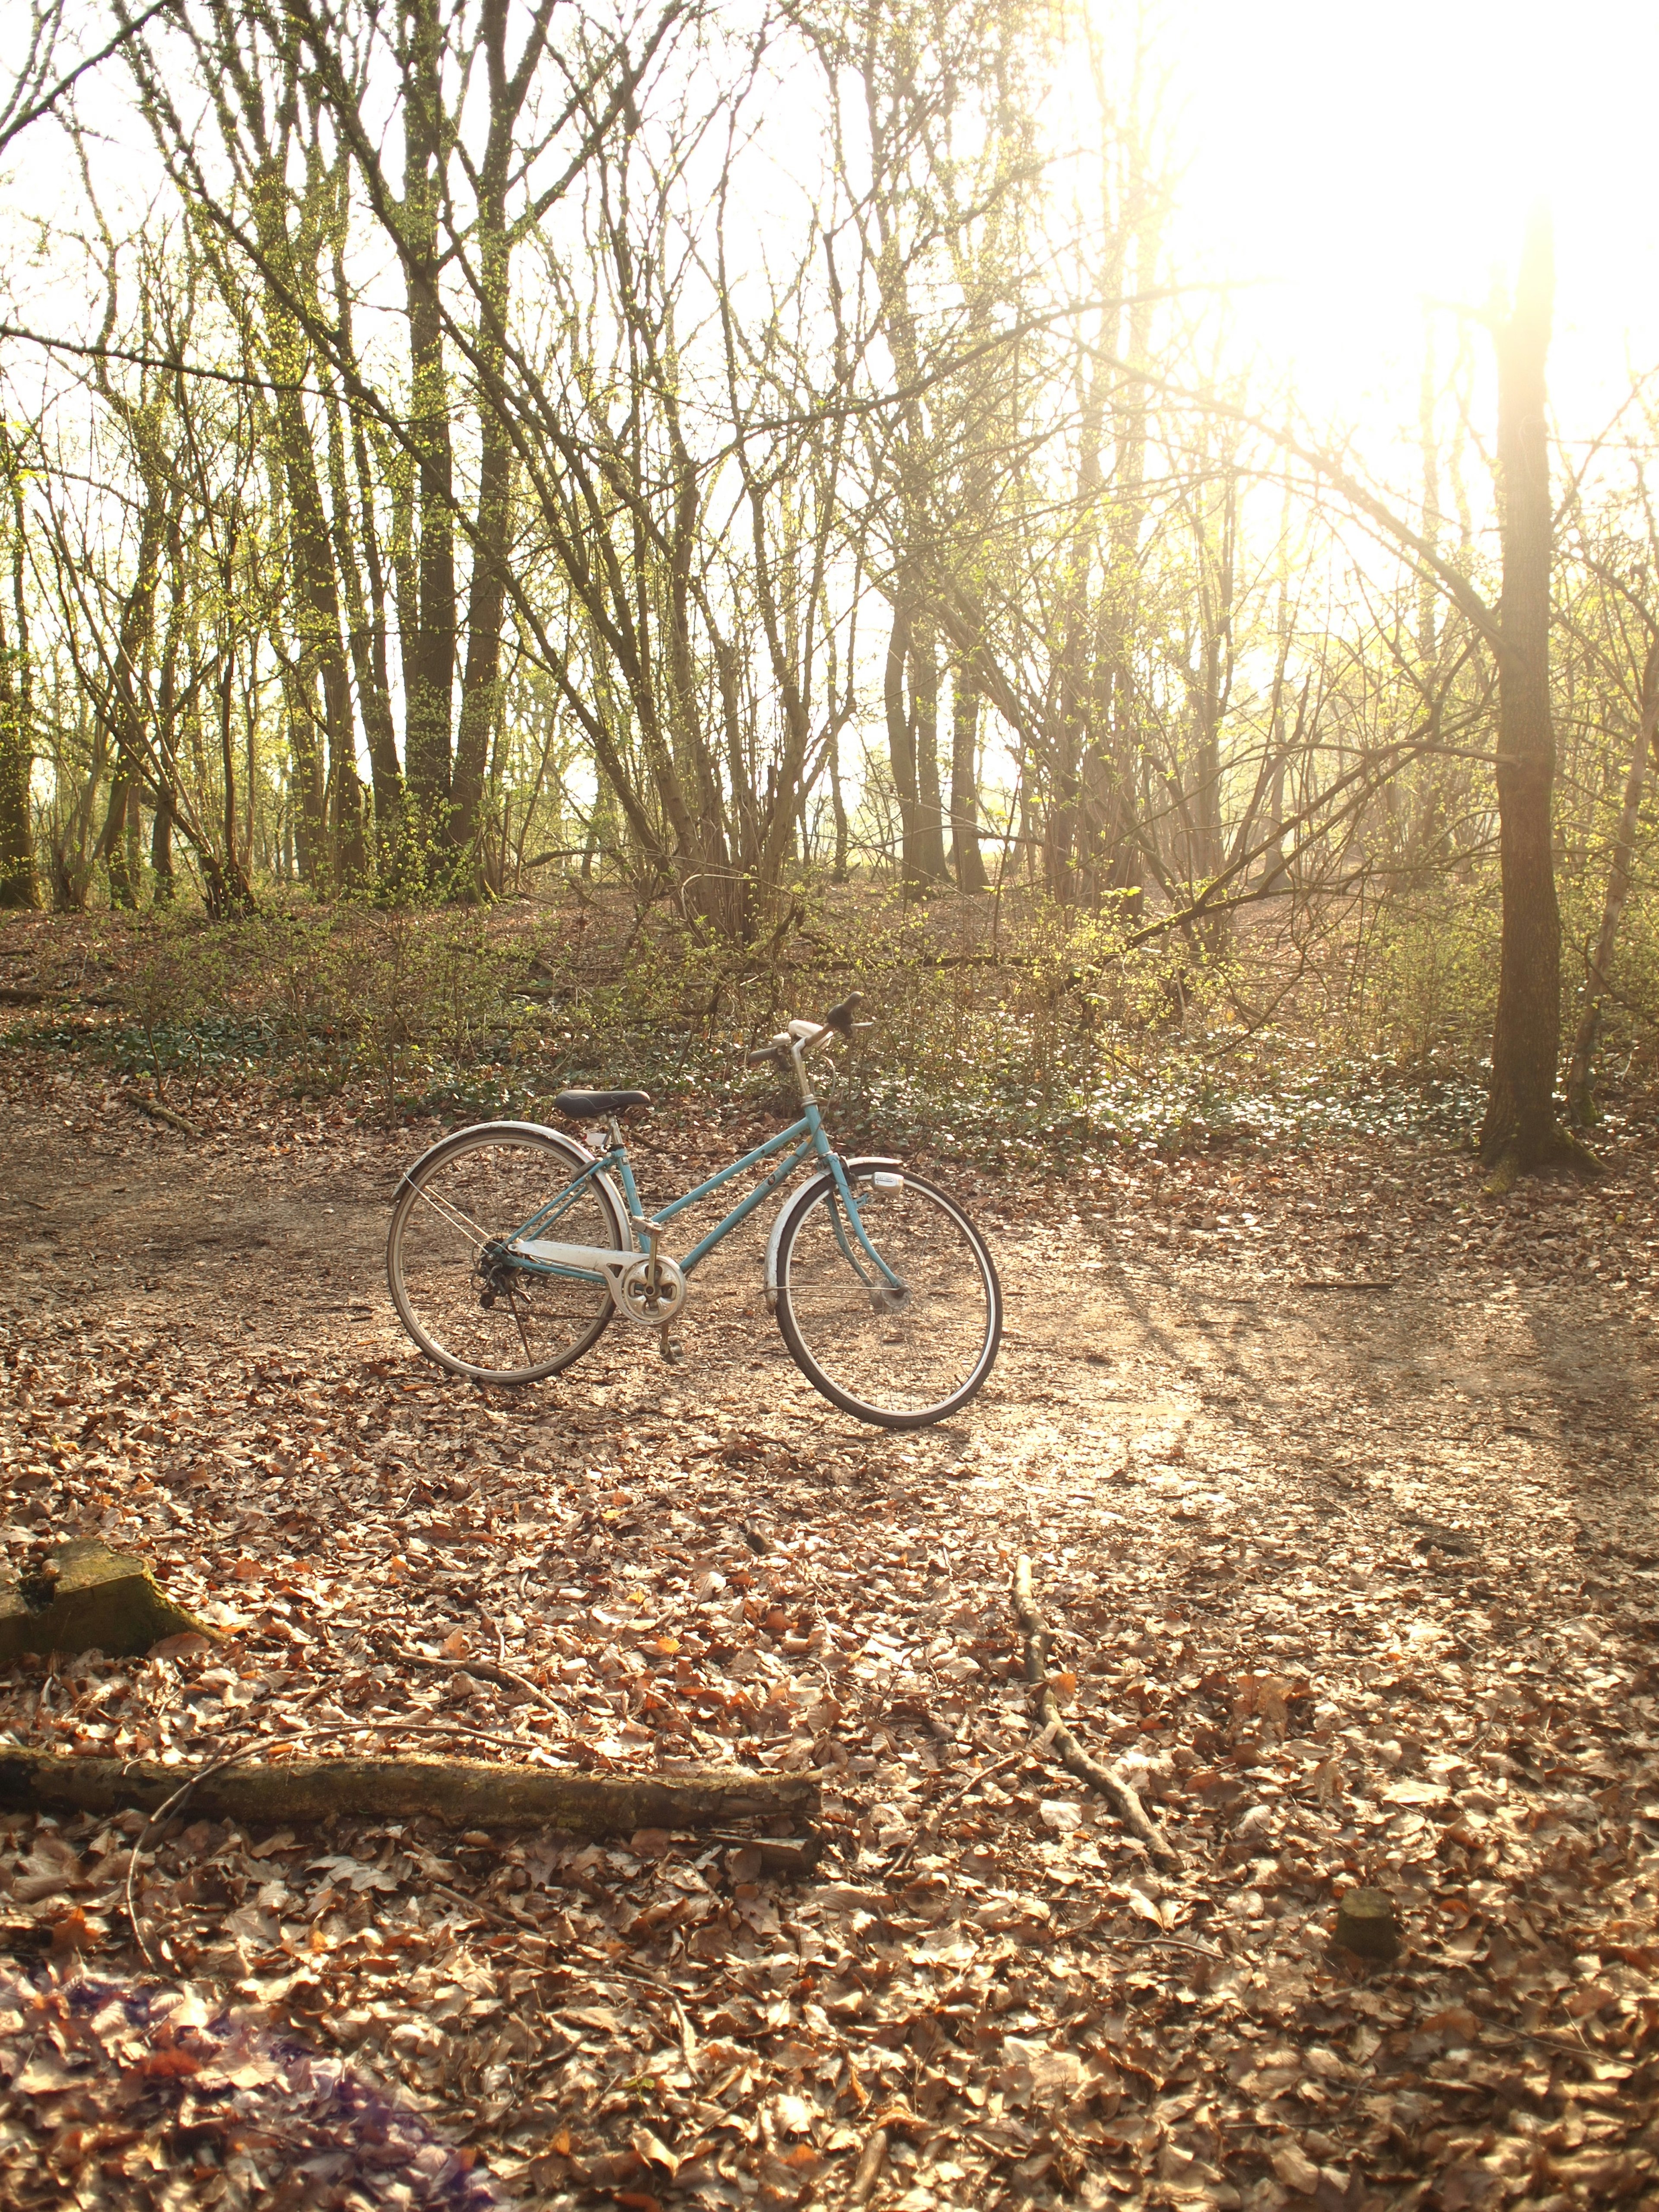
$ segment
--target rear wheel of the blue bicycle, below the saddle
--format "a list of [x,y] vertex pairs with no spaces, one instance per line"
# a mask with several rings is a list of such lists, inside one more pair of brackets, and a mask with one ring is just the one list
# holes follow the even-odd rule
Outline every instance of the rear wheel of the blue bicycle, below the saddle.
[[[604,1332],[604,1283],[513,1267],[504,1241],[560,1197],[586,1152],[529,1121],[484,1121],[436,1144],[398,1186],[387,1285],[420,1349],[473,1383],[538,1383],[580,1360]],[[604,1183],[571,1192],[540,1237],[628,1250]]]

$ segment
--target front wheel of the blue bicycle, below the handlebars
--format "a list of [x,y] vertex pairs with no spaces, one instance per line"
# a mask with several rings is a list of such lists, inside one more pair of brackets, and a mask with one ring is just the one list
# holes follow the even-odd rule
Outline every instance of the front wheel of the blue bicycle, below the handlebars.
[[933,1183],[885,1168],[852,1168],[847,1181],[869,1243],[898,1281],[869,1259],[836,1186],[807,1183],[779,1232],[783,1343],[845,1413],[880,1429],[925,1429],[967,1405],[991,1374],[1002,1285],[980,1232]]

